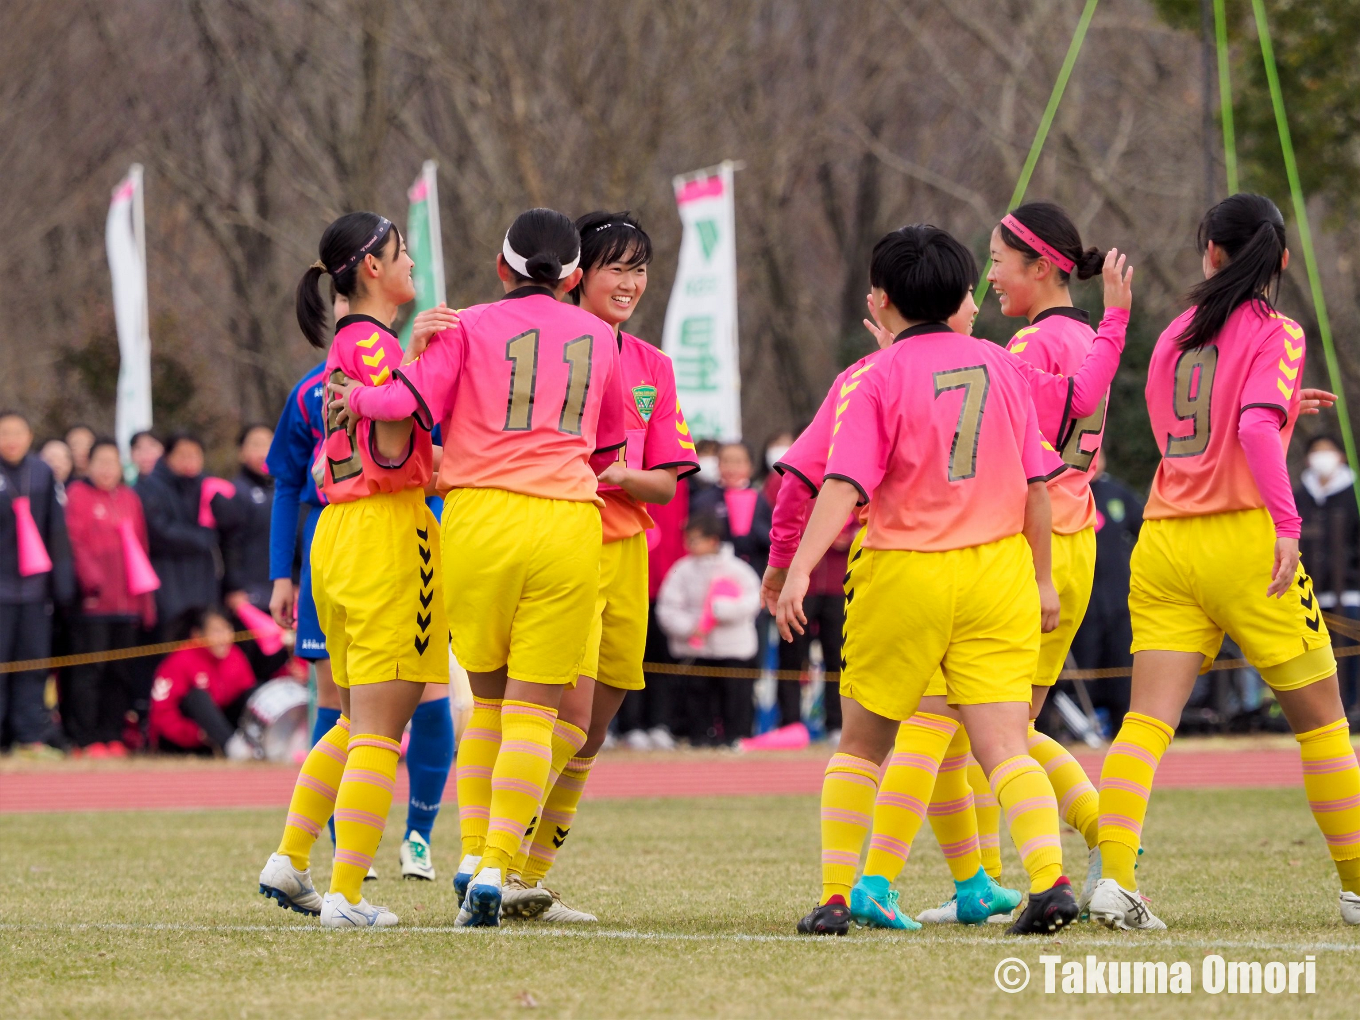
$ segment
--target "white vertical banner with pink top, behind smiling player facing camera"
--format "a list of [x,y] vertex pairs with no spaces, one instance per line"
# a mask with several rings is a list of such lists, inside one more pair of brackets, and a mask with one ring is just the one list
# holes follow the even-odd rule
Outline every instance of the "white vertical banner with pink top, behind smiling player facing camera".
[[675,363],[676,393],[696,439],[741,438],[736,169],[725,160],[675,178],[683,234],[661,347]]

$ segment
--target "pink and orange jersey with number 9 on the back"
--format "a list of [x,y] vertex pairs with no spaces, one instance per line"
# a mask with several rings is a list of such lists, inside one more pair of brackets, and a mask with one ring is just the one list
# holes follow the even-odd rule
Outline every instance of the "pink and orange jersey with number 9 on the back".
[[1148,416],[1161,450],[1142,515],[1195,517],[1265,506],[1238,439],[1247,408],[1280,412],[1288,449],[1299,418],[1303,329],[1255,303],[1238,307],[1213,343],[1182,351],[1176,337],[1194,309],[1178,316],[1148,364]]

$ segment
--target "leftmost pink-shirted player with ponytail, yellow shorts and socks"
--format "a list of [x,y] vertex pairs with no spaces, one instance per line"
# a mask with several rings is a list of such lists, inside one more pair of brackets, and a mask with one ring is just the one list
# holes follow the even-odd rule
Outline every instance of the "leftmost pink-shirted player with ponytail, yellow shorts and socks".
[[[328,375],[386,382],[403,359],[388,324],[415,296],[401,234],[382,216],[351,212],[326,227],[320,254],[298,283],[303,335],[325,345],[317,282],[329,273],[350,314],[336,322]],[[341,715],[303,763],[283,842],[260,884],[295,902],[294,892],[306,895],[307,854],[333,812],[335,866],[321,904],[328,928],[397,923],[363,898],[362,884],[392,805],[401,732],[424,685],[449,681],[438,522],[424,505],[432,458],[428,424],[409,416],[347,423],[332,413],[325,422],[316,468],[326,507],[311,577]]]

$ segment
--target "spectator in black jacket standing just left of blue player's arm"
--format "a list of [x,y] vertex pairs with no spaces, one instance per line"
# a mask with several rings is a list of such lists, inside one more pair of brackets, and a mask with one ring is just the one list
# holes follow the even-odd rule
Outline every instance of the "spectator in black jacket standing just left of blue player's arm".
[[241,471],[231,479],[234,496],[212,500],[222,536],[223,597],[241,592],[250,602],[269,612],[273,582],[269,579],[269,515],[273,507],[273,479],[265,458],[273,430],[250,424],[237,437]]

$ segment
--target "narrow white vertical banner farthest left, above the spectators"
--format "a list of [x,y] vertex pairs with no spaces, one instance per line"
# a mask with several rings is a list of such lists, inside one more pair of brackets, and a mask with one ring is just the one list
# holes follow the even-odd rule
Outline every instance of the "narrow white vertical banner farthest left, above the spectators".
[[151,427],[151,332],[147,310],[147,241],[141,165],[113,189],[105,226],[113,317],[118,328],[118,407],[114,435],[126,462],[133,434]]

